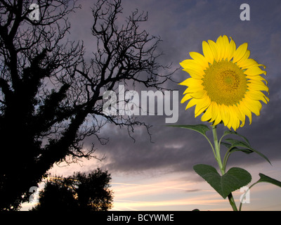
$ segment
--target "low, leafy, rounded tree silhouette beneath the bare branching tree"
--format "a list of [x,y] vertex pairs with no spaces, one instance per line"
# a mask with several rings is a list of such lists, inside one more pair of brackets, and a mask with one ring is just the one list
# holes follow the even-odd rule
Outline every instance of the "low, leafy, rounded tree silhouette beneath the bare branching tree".
[[105,211],[112,207],[111,176],[100,169],[67,178],[56,176],[39,193],[32,211]]

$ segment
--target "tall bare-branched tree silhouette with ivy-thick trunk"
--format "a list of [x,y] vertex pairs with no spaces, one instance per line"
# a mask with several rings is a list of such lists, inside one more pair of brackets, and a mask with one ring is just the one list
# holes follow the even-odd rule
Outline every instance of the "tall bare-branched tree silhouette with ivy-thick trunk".
[[148,17],[133,12],[117,26],[120,0],[93,5],[91,34],[96,53],[67,39],[67,15],[76,1],[38,2],[39,20],[30,19],[30,1],[0,0],[0,210],[18,210],[55,162],[95,158],[87,136],[99,136],[107,123],[148,124],[136,117],[105,115],[103,92],[118,84],[161,89],[172,72],[157,63],[160,39],[140,30]]

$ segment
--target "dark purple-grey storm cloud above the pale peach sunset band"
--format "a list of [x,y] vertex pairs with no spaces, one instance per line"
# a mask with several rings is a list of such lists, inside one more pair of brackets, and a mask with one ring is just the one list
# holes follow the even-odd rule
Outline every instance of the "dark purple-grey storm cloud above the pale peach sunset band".
[[[263,104],[261,116],[253,114],[253,122],[237,131],[247,136],[252,146],[266,154],[270,160],[280,160],[280,121],[281,121],[281,4],[280,1],[249,1],[251,20],[240,20],[240,4],[243,1],[123,1],[124,15],[138,8],[148,11],[149,20],[141,27],[150,34],[159,35],[163,42],[159,51],[164,55],[160,63],[178,63],[188,58],[188,52],[202,53],[202,41],[226,34],[233,37],[237,46],[249,43],[251,58],[267,66],[270,102]],[[83,1],[83,11],[89,10],[90,1]],[[75,38],[91,44],[91,13],[77,13],[72,27],[77,32]],[[90,18],[86,18],[86,15]],[[81,23],[82,21],[82,23]],[[84,23],[83,21],[86,21]],[[75,28],[75,27],[80,28]],[[91,46],[90,46],[91,47]],[[91,49],[91,48],[90,48]],[[178,82],[187,79],[188,74],[178,70],[174,79]],[[179,101],[184,87],[167,83],[178,89]],[[145,129],[136,128],[131,139],[126,129],[108,125],[102,136],[108,136],[110,142],[98,146],[98,152],[105,153],[107,169],[120,172],[138,172],[146,169],[166,169],[169,171],[187,171],[197,163],[214,165],[214,156],[209,143],[194,131],[166,127],[165,116],[144,116],[142,120],[150,122],[152,141]],[[194,108],[185,111],[185,104],[179,104],[179,120],[177,124],[200,124],[200,117],[194,118]],[[226,130],[223,128],[223,130]],[[220,129],[220,134],[222,134]],[[209,131],[210,132],[210,131]],[[93,140],[91,140],[93,141]],[[86,143],[87,144],[87,143]],[[242,157],[243,156],[243,157]],[[245,156],[245,157],[244,157]],[[263,160],[256,155],[251,158],[239,155],[231,158],[231,163],[247,162],[254,164]]]

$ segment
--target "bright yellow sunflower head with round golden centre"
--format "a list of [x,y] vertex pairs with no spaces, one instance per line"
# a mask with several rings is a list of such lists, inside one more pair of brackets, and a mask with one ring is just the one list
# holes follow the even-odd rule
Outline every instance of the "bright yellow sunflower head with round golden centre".
[[[259,116],[261,102],[268,103],[268,82],[261,75],[266,71],[264,65],[249,58],[248,44],[236,49],[233,39],[224,35],[216,42],[203,41],[203,54],[190,52],[192,59],[183,60],[180,65],[190,78],[181,82],[188,86],[181,103],[188,101],[186,110],[194,105],[195,117],[204,113],[202,121],[220,122],[231,129],[243,127],[245,117],[251,113]],[[268,93],[269,94],[269,93]]]

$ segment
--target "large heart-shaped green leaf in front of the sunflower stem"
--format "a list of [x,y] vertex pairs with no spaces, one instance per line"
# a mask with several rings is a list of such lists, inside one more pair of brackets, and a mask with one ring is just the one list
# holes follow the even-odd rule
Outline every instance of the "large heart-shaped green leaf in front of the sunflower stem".
[[218,174],[216,169],[210,165],[195,165],[193,169],[223,198],[251,182],[251,174],[245,169],[237,167],[230,168],[223,176]]

